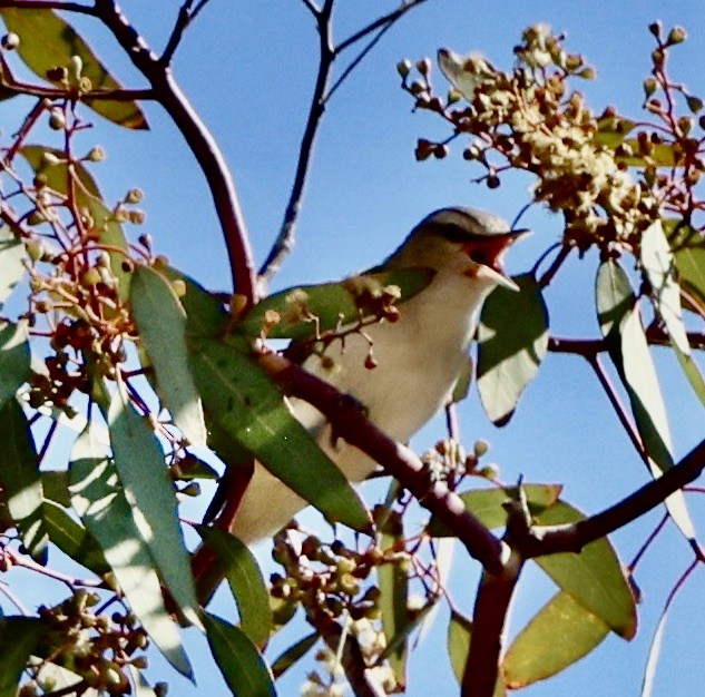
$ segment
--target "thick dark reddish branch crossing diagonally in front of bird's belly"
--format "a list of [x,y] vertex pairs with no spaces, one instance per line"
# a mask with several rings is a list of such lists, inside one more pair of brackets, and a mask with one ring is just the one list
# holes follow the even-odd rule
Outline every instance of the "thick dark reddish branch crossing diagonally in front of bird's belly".
[[503,572],[503,543],[470,513],[460,497],[443,482],[431,481],[421,459],[409,448],[382,433],[360,411],[360,406],[333,385],[306,373],[276,353],[261,356],[260,365],[280,386],[325,414],[335,434],[379,462],[388,474],[408,489],[464,544],[471,557],[489,572]]

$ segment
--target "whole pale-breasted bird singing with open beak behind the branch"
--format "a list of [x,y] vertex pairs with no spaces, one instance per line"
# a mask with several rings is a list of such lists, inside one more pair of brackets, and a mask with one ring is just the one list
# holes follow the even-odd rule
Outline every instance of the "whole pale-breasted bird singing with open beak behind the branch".
[[[322,355],[303,363],[310,373],[356,397],[368,418],[390,438],[407,443],[450,399],[467,365],[482,303],[497,286],[518,291],[505,275],[506,249],[527,230],[511,230],[502,218],[473,208],[442,208],[417,225],[374,272],[431,268],[432,279],[400,305],[396,322],[381,321],[366,336],[349,334]],[[370,345],[376,366],[365,365]],[[292,400],[296,419],[352,482],[368,478],[376,463],[336,440],[325,418]],[[233,533],[246,543],[268,537],[306,502],[261,464],[241,501]]]

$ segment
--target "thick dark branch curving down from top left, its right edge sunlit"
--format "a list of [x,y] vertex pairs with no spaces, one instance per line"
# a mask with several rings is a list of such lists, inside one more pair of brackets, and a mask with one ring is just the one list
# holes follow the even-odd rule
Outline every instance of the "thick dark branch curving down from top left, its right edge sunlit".
[[164,66],[149,50],[117,4],[112,0],[96,0],[95,14],[147,78],[155,99],[169,114],[196,156],[225,237],[233,287],[247,300],[248,305],[253,304],[257,297],[254,259],[235,185],[217,143],[182,92],[168,66]]

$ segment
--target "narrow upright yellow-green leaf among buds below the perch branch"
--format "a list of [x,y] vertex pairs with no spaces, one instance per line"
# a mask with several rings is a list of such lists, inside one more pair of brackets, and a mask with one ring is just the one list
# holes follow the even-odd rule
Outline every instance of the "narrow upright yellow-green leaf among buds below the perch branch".
[[[403,541],[401,516],[390,511],[380,536],[382,551],[394,548]],[[398,548],[399,549],[399,548]],[[407,658],[409,654],[408,631],[409,617],[409,573],[405,565],[383,563],[378,567],[380,586],[380,610],[382,611],[382,630],[386,640],[385,651],[390,666],[394,671],[396,684],[407,685]]]

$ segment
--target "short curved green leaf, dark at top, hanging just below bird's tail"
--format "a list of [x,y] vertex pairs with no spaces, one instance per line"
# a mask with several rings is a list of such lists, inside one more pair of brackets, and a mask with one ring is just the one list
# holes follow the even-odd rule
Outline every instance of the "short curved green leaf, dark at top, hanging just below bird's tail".
[[270,593],[255,556],[236,537],[197,526],[203,541],[215,552],[237,602],[242,630],[257,646],[264,646],[272,631]]

